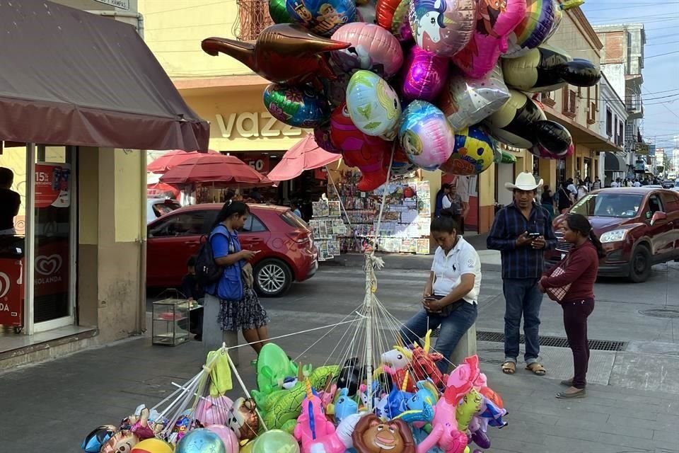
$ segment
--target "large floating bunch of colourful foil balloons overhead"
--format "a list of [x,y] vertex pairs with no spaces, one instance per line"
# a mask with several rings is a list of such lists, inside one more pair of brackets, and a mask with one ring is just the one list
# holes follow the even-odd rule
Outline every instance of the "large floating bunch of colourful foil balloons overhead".
[[203,41],[272,81],[269,112],[315,129],[359,168],[359,190],[417,168],[470,176],[501,161],[496,140],[547,159],[568,130],[526,93],[593,86],[600,72],[545,45],[582,0],[269,0],[257,41]]

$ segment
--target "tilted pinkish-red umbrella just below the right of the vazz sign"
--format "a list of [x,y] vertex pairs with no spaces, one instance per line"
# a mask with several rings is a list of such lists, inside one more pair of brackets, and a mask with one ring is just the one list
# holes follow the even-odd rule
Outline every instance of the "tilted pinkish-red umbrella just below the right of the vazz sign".
[[313,170],[342,159],[318,146],[313,134],[307,134],[294,147],[286,151],[283,159],[267,175],[272,181],[285,181],[300,176],[305,170]]

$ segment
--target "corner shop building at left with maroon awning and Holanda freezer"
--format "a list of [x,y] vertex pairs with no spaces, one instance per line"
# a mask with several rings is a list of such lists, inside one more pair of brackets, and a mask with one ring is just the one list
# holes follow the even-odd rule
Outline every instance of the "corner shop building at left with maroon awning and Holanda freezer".
[[[13,173],[20,200],[13,228],[0,232],[0,369],[144,331],[143,149],[185,147],[187,137],[162,132],[194,125],[166,74],[149,61],[136,0],[55,3],[0,4],[8,32],[0,58],[14,69],[0,80],[0,166]],[[57,26],[69,33],[55,35]],[[22,45],[35,51],[22,52]],[[125,68],[115,64],[122,55]],[[110,96],[103,101],[102,93]],[[183,119],[173,118],[178,113]],[[138,133],[142,122],[146,134]],[[204,131],[207,147],[207,123]]]

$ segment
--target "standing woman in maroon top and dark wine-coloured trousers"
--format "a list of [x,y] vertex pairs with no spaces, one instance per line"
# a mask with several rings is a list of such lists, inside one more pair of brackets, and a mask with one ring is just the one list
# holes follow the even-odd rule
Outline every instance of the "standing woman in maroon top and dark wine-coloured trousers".
[[[540,292],[547,292],[564,309],[564,328],[573,351],[573,377],[561,382],[568,389],[558,393],[557,398],[584,398],[589,363],[587,318],[594,310],[594,282],[599,260],[606,254],[584,215],[569,215],[564,240],[573,244],[573,248],[561,263],[542,276]],[[560,272],[555,272],[557,268]]]

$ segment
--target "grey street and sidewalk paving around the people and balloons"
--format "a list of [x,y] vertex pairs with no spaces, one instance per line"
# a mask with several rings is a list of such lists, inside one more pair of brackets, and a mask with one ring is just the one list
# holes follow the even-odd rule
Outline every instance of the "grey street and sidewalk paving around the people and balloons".
[[[397,319],[418,309],[426,262],[414,269],[378,273],[377,296]],[[389,265],[389,263],[388,263]],[[560,401],[558,381],[569,377],[567,348],[542,348],[549,370],[536,377],[523,366],[501,374],[502,343],[481,341],[482,371],[504,398],[509,426],[489,432],[489,452],[679,453],[679,266],[654,268],[639,285],[605,280],[596,285],[589,336],[625,342],[624,350],[593,351],[596,365],[588,398]],[[338,323],[362,302],[364,275],[352,265],[323,266],[294,285],[285,297],[262,299],[272,318],[272,336]],[[649,314],[661,317],[649,316]],[[496,265],[484,263],[477,331],[503,330],[504,298]],[[542,336],[565,336],[559,306],[542,305]],[[343,326],[276,340],[291,357],[315,365],[332,362]],[[324,336],[325,335],[325,336]],[[317,342],[317,343],[316,343]],[[312,346],[313,345],[313,346]],[[311,347],[311,348],[310,348]],[[254,388],[249,347],[240,349],[240,372]],[[6,408],[0,423],[0,452],[77,452],[97,425],[118,423],[140,403],[153,405],[199,372],[202,345],[151,346],[149,336],[124,340],[41,365],[0,375]],[[232,391],[232,397],[240,396]]]

